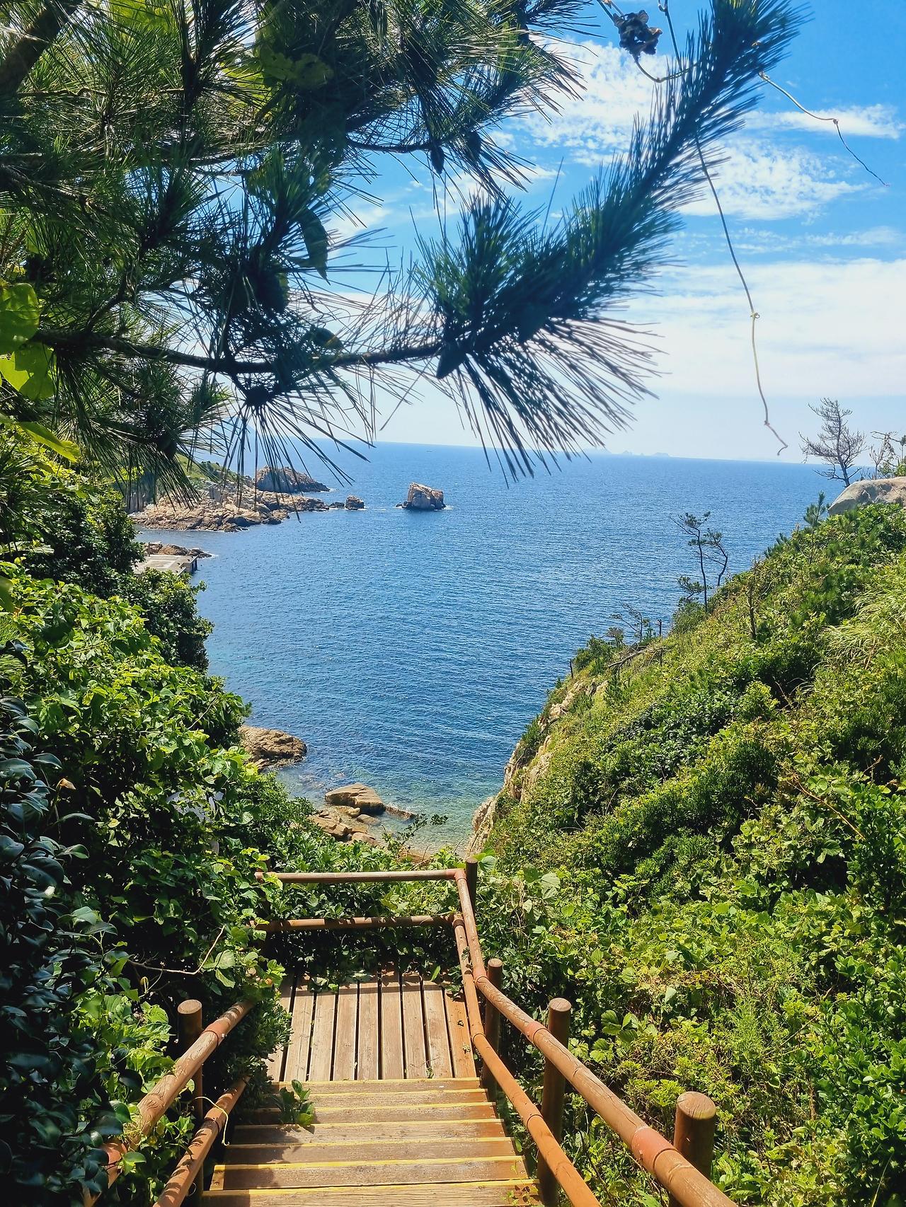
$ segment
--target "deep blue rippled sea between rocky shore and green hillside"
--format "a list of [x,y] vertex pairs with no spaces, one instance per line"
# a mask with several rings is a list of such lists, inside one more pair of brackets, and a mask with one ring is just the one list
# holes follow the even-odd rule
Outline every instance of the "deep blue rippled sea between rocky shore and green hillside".
[[[191,533],[215,554],[196,576],[211,670],[308,744],[295,791],[364,780],[454,838],[590,634],[627,604],[669,619],[693,570],[672,515],[710,509],[742,570],[821,486],[806,466],[609,455],[507,485],[481,450],[406,444],[341,463],[364,512]],[[399,511],[410,482],[449,507]]]

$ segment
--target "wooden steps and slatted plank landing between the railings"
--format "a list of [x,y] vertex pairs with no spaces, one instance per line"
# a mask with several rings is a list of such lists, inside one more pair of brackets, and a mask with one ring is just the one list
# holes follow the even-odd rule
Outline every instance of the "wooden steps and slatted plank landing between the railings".
[[217,1207],[529,1207],[534,1183],[475,1075],[465,1005],[388,970],[339,992],[289,976],[277,1083],[307,1081],[315,1121],[255,1112],[205,1194]]

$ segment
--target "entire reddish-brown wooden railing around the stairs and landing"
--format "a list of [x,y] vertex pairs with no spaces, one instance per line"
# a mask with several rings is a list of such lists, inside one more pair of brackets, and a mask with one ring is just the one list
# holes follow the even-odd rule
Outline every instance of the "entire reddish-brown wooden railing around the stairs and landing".
[[[710,1182],[716,1110],[702,1094],[685,1094],[676,1107],[674,1143],[650,1127],[618,1098],[594,1073],[569,1051],[570,1004],[554,998],[548,1007],[547,1026],[522,1010],[500,989],[503,964],[489,960],[481,950],[475,920],[477,861],[466,859],[464,868],[413,869],[411,871],[292,871],[272,873],[283,884],[370,884],[413,880],[448,880],[457,886],[459,912],[422,915],[381,915],[344,919],[285,919],[262,922],[256,929],[266,933],[294,931],[355,931],[412,926],[451,926],[457,943],[463,974],[469,1033],[482,1063],[482,1084],[498,1085],[522,1119],[538,1148],[538,1182],[545,1203],[557,1201],[558,1188],[573,1207],[600,1207],[598,1199],[561,1144],[563,1103],[567,1083],[626,1144],[635,1161],[669,1195],[670,1207],[734,1207],[731,1199]],[[259,880],[265,875],[257,873]],[[482,1011],[478,996],[484,1001]],[[201,1004],[185,1002],[180,1007],[180,1039],[185,1046],[172,1071],[162,1077],[139,1102],[138,1136],[130,1142],[106,1145],[108,1185],[121,1172],[127,1151],[138,1147],[163,1114],[173,1106],[188,1081],[193,1081],[193,1107],[199,1124],[194,1137],[157,1199],[155,1207],[180,1207],[194,1186],[198,1202],[203,1191],[204,1160],[226,1125],[230,1112],[239,1101],[245,1078],[240,1078],[204,1112],[202,1066],[220,1046],[233,1027],[252,1008],[251,1002],[237,1002],[204,1030],[201,1028]],[[545,1057],[540,1106],[532,1101],[499,1055],[500,1024],[505,1019]],[[98,1195],[86,1195],[85,1207],[93,1207]]]

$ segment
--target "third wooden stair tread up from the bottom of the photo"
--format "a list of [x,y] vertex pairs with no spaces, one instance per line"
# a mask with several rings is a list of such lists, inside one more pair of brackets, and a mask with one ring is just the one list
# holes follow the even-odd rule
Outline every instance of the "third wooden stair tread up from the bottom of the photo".
[[512,1156],[515,1149],[509,1136],[489,1139],[464,1139],[461,1136],[429,1139],[365,1139],[314,1141],[307,1144],[237,1144],[223,1150],[223,1165],[277,1165],[306,1161],[420,1161],[454,1160],[458,1156]]

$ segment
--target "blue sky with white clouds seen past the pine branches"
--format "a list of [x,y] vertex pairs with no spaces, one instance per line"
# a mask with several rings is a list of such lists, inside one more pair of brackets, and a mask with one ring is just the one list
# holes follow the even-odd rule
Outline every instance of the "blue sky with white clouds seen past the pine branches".
[[[654,14],[655,5],[649,8]],[[696,12],[692,2],[672,4],[680,28]],[[546,204],[559,170],[554,214],[626,145],[633,117],[650,103],[652,84],[617,48],[611,23],[590,13],[594,35],[561,46],[580,69],[581,97],[547,119],[532,116],[500,130],[501,141],[536,165],[527,205]],[[761,315],[762,380],[771,419],[790,445],[786,460],[801,460],[808,404],[825,395],[850,407],[866,431],[906,430],[906,10],[821,0],[808,17],[772,78],[807,107],[838,117],[853,150],[889,187],[846,153],[831,123],[800,113],[767,84],[745,129],[725,147],[718,187]],[[652,23],[660,22],[652,16]],[[337,233],[364,231],[374,258],[389,252],[395,260],[414,246],[417,229],[439,232],[437,185],[425,164],[413,162],[412,174],[393,161],[377,167],[371,192],[381,200],[358,204],[358,221]],[[448,218],[469,187],[448,182]],[[660,296],[639,298],[627,313],[655,332],[656,397],[635,408],[633,425],[609,448],[773,457],[778,445],[755,390],[748,304],[710,198],[685,214],[674,252]],[[372,256],[362,249],[359,258]],[[422,384],[379,438],[474,443],[452,403]]]

